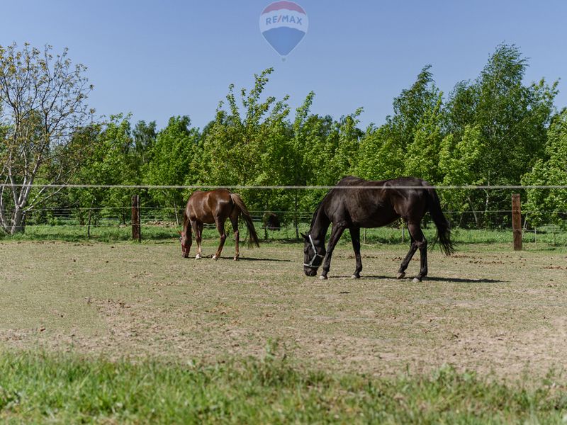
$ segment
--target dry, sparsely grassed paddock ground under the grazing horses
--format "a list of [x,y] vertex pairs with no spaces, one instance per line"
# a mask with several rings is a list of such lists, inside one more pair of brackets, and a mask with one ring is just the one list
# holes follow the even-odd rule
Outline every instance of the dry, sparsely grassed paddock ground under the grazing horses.
[[[213,241],[204,254],[213,254]],[[0,243],[0,348],[218,361],[269,341],[301,363],[395,375],[444,364],[534,378],[567,366],[567,253],[468,245],[430,251],[430,278],[395,280],[406,246],[349,245],[329,280],[301,244],[181,258],[179,244]],[[194,254],[193,252],[191,254]]]

